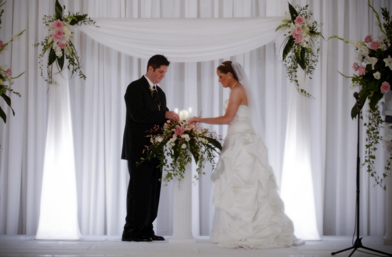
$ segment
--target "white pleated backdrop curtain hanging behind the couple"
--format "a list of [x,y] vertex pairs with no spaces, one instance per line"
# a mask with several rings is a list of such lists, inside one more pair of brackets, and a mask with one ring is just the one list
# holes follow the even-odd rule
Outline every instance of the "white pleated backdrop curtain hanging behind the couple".
[[[275,54],[280,43],[271,40],[277,36],[274,27],[280,21],[274,16],[281,16],[282,9],[287,10],[287,2],[64,0],[60,3],[71,13],[88,13],[101,27],[84,28],[85,33],[75,29],[74,45],[82,58],[87,80],[72,78],[69,81],[78,221],[82,235],[120,235],[122,232],[129,179],[126,161],[120,160],[125,123],[123,95],[127,85],[145,73],[148,58],[157,53],[149,51],[151,47],[162,47],[167,52],[158,53],[167,55],[172,61],[161,83],[169,108],[191,107],[193,115],[202,111],[203,117],[223,115],[223,102],[229,98],[229,91],[217,82],[218,64],[230,59],[243,65],[254,97],[258,99],[261,125],[257,125],[256,130],[265,139],[270,164],[281,185],[287,137],[291,135],[287,133],[288,120],[293,118],[289,102],[298,93],[287,80],[281,57]],[[293,0],[291,3],[310,5],[314,19],[323,23],[321,31],[325,38],[339,35],[363,40],[368,34],[379,35],[367,0]],[[381,7],[392,10],[392,2],[388,0],[371,3],[379,13]],[[12,34],[27,30],[0,55],[0,63],[10,65],[14,74],[26,71],[13,85],[22,95],[21,98],[11,96],[15,117],[0,102],[8,116],[7,124],[0,125],[0,233],[35,234],[41,200],[49,87],[39,76],[38,49],[32,45],[47,35],[42,17],[53,15],[54,1],[7,0],[4,9],[1,40],[5,42]],[[256,18],[265,16],[272,17]],[[216,19],[233,17],[239,19]],[[159,18],[165,19],[160,22]],[[199,26],[190,27],[183,20],[179,24],[178,18],[205,19]],[[247,25],[243,27],[241,22]],[[200,33],[208,38],[208,45],[195,46],[198,38],[194,35]],[[136,36],[141,34],[143,40]],[[187,36],[186,40],[183,35]],[[145,38],[151,38],[149,43]],[[172,44],[173,38],[178,38],[177,44]],[[170,47],[183,49],[183,55],[174,52],[171,55]],[[184,56],[188,58],[184,60]],[[309,83],[309,91],[316,99],[297,99],[306,101],[305,106],[309,105],[310,122],[305,131],[309,133],[311,167],[310,177],[306,179],[312,181],[313,187],[310,204],[314,205],[319,235],[352,235],[355,226],[356,121],[351,120],[350,109],[355,89],[348,87],[350,81],[337,70],[347,75],[352,73],[354,50],[337,40],[322,41],[319,60]],[[206,127],[222,136],[227,130],[226,126]],[[365,133],[362,131],[361,146],[364,145]],[[363,152],[362,149],[362,159]],[[298,162],[303,161],[301,155],[297,156]],[[377,169],[380,171],[385,156],[380,147],[377,150]],[[195,236],[209,235],[211,231],[211,166],[206,165],[205,172],[207,175],[192,186]],[[309,197],[296,197],[296,188],[301,188],[305,178],[296,176],[295,170],[291,172],[290,178],[298,177],[298,180],[293,181],[291,193],[294,198],[290,204],[309,200]],[[373,180],[364,169],[361,175],[361,235],[384,235],[385,192],[373,186]],[[172,190],[175,188],[175,184],[162,188],[154,224],[157,234],[172,233]],[[296,215],[308,215],[304,211],[299,208]]]

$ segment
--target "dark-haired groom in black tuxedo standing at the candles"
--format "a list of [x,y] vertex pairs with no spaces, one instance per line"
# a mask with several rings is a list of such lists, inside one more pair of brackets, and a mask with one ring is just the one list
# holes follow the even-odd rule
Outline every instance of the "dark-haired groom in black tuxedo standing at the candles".
[[163,125],[167,119],[179,120],[177,113],[166,107],[165,93],[156,85],[165,77],[169,64],[163,55],[154,55],[147,63],[147,73],[129,84],[125,92],[127,113],[121,159],[128,160],[129,185],[122,241],[165,240],[152,228],[161,190],[162,169],[156,168],[159,160],[139,165],[136,162],[146,157],[143,149],[151,145],[150,138],[145,137],[149,129]]

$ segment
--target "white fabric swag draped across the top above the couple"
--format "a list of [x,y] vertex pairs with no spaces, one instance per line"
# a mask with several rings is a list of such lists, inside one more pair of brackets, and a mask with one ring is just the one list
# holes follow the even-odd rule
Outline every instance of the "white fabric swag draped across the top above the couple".
[[275,29],[283,18],[96,18],[98,27],[83,25],[80,30],[96,42],[132,57],[148,59],[154,52],[164,54],[171,62],[202,62],[267,44],[282,33]]

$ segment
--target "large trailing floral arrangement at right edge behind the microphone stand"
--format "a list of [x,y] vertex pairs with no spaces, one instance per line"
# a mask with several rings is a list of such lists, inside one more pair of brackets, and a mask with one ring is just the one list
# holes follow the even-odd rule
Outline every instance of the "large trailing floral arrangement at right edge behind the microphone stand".
[[[358,110],[360,111],[368,100],[369,121],[364,124],[367,126],[367,144],[363,165],[367,166],[367,171],[371,177],[374,177],[376,184],[385,190],[386,186],[383,184],[383,179],[387,176],[386,171],[390,170],[392,155],[387,160],[385,172],[380,177],[374,169],[374,160],[376,159],[374,151],[376,151],[376,146],[381,140],[379,130],[383,128],[384,123],[378,109],[378,102],[385,93],[390,91],[390,85],[392,84],[392,17],[389,16],[387,8],[381,8],[381,14],[385,21],[381,25],[379,15],[369,1],[368,5],[376,15],[377,25],[381,31],[378,38],[372,35],[366,36],[364,41],[345,40],[338,36],[331,36],[330,38],[343,40],[356,49],[356,62],[352,66],[355,71],[354,75],[347,77],[339,73],[346,78],[351,78],[351,88],[359,87],[359,106],[356,102],[351,109],[352,118],[358,115]],[[363,117],[361,116],[361,118]]]

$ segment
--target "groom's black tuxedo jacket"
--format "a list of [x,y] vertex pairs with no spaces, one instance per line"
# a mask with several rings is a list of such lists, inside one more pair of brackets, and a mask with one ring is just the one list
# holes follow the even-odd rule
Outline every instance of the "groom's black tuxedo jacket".
[[148,130],[155,125],[165,123],[166,96],[162,89],[156,86],[161,101],[160,110],[151,97],[147,79],[142,76],[129,84],[125,92],[125,105],[127,113],[123,137],[121,159],[138,161],[145,157],[143,149],[151,145]]

